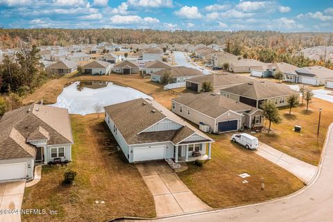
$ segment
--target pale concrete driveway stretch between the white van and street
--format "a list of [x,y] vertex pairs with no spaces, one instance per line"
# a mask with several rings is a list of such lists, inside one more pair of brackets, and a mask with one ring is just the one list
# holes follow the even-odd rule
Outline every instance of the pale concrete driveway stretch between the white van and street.
[[308,184],[314,178],[317,171],[316,166],[291,157],[262,142],[259,142],[259,148],[257,148],[255,153],[293,173],[305,184]]

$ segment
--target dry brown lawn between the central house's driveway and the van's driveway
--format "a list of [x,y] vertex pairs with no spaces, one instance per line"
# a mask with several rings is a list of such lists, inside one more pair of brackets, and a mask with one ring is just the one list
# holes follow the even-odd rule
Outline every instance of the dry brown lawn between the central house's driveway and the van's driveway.
[[[246,148],[230,142],[228,134],[210,135],[212,160],[203,167],[188,164],[178,176],[201,200],[211,207],[231,207],[257,203],[291,194],[303,187],[302,182]],[[249,178],[239,177],[241,173]],[[242,183],[248,180],[248,183]],[[261,189],[264,182],[265,189]]]

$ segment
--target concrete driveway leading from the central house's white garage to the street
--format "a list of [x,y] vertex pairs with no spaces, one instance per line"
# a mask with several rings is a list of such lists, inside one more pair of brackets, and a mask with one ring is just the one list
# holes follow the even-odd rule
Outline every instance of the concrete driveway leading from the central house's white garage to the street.
[[153,194],[157,216],[211,209],[189,190],[164,160],[142,162],[136,166]]

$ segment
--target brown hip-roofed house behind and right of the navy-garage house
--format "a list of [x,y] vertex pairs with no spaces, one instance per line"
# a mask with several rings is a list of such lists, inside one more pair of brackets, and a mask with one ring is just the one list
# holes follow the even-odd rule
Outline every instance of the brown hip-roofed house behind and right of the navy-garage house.
[[221,89],[221,95],[241,103],[246,103],[255,108],[260,108],[266,100],[273,101],[277,107],[288,105],[287,98],[300,93],[289,88],[287,85],[273,83],[271,81],[253,80],[249,83],[234,85]]

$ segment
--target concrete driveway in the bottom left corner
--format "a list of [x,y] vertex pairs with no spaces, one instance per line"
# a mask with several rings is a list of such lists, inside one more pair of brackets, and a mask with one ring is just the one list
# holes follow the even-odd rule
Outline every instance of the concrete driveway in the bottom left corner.
[[21,210],[26,181],[0,183],[0,222],[21,221],[21,212],[6,212],[7,210]]

